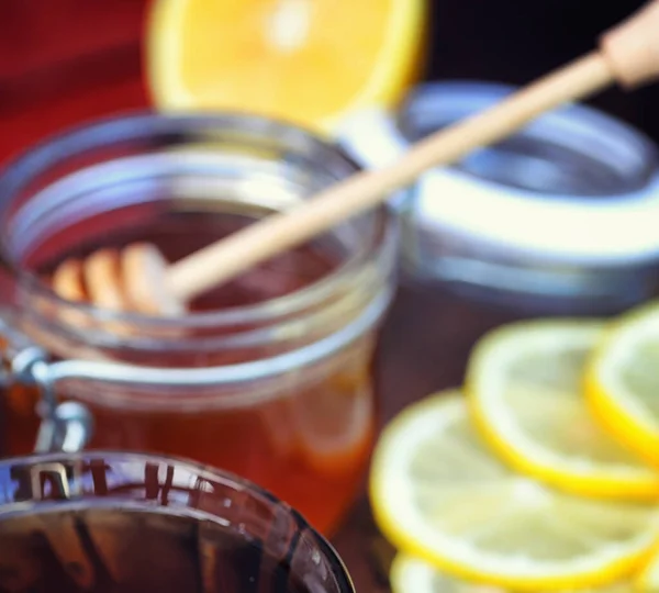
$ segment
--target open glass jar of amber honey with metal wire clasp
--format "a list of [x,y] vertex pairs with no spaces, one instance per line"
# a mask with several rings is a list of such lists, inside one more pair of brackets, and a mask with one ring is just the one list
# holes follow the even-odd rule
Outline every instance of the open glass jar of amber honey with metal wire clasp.
[[[243,115],[102,121],[11,165],[0,178],[15,286],[7,452],[31,451],[40,415],[75,401],[93,417],[91,448],[226,469],[320,529],[335,526],[375,430],[371,362],[396,250],[387,209],[249,270],[179,317],[63,300],[48,282],[66,258],[134,240],[175,260],[355,170],[304,131]],[[42,434],[40,448],[53,437]]]

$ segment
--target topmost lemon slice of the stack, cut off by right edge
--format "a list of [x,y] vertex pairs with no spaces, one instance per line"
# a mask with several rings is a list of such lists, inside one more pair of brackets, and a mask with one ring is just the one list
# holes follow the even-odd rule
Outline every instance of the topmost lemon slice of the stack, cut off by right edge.
[[659,466],[659,305],[623,315],[591,357],[591,407],[626,446]]

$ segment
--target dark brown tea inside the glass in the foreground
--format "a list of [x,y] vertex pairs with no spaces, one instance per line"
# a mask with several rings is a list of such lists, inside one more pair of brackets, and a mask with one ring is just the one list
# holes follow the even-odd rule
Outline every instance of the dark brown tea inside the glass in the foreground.
[[288,562],[185,516],[105,508],[0,522],[1,593],[319,593]]

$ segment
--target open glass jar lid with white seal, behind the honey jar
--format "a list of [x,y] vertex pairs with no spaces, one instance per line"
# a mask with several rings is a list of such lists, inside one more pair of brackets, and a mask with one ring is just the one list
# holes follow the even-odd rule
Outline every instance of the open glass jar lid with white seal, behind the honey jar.
[[[395,115],[355,114],[340,138],[365,165],[382,166],[514,90],[424,85]],[[659,262],[658,163],[655,144],[635,128],[567,105],[433,169],[396,199],[405,267],[418,278],[494,289],[515,304],[511,295],[599,300],[604,309],[643,300]]]

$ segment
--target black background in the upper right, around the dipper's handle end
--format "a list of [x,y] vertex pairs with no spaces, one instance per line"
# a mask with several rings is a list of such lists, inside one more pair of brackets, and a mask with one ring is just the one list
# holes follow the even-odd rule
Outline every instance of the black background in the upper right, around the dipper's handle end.
[[[641,0],[432,0],[428,78],[524,85],[592,49]],[[659,35],[659,32],[657,32]],[[659,141],[659,86],[590,101]]]

